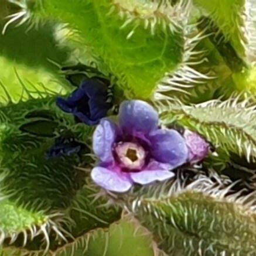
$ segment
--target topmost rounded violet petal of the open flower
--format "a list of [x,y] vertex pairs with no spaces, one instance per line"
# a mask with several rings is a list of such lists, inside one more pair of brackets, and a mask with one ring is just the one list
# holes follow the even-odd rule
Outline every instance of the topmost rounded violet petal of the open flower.
[[158,126],[158,113],[145,101],[124,101],[120,106],[119,121],[121,128],[129,134],[148,134]]

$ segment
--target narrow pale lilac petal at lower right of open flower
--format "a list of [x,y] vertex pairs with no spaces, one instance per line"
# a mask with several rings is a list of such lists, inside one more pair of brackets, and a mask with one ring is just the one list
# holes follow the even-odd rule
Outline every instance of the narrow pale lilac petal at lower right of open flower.
[[132,172],[130,176],[135,183],[146,185],[151,182],[162,182],[163,180],[173,178],[175,174],[168,169],[168,164],[153,161],[141,172]]

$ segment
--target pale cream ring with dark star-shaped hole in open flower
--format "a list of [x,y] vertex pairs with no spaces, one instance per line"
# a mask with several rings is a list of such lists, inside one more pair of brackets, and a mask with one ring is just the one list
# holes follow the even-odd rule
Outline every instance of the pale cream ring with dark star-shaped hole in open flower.
[[144,148],[134,142],[121,142],[115,146],[115,153],[122,167],[127,169],[141,169],[145,163]]

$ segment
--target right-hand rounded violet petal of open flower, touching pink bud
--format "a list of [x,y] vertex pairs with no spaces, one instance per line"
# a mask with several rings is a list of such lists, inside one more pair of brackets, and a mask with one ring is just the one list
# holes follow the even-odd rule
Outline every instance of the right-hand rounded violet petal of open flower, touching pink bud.
[[172,168],[183,165],[188,158],[185,139],[178,131],[165,129],[152,132],[151,153],[158,162],[169,163]]

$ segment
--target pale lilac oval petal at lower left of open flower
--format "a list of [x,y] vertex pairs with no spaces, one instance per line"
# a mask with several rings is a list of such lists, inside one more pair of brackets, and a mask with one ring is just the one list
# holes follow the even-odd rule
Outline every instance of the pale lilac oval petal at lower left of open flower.
[[114,192],[127,192],[132,186],[132,180],[127,173],[115,172],[101,166],[93,168],[91,178],[99,186]]

